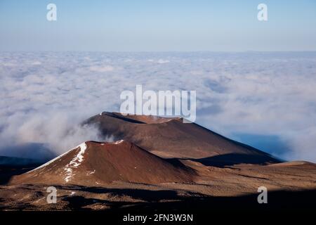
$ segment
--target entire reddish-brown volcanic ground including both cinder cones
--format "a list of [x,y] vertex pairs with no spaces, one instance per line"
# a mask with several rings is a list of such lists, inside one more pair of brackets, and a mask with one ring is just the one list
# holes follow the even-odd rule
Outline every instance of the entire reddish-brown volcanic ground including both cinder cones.
[[[313,163],[277,163],[267,153],[180,118],[102,113],[86,123],[98,125],[105,137],[126,141],[86,141],[13,176],[8,185],[0,185],[0,210],[134,207],[140,212],[150,207],[157,212],[159,206],[172,212],[181,207],[216,210],[220,205],[223,210],[262,210],[257,202],[260,186],[268,188],[268,207],[315,208]],[[46,188],[51,185],[58,187],[56,204],[46,201]]]

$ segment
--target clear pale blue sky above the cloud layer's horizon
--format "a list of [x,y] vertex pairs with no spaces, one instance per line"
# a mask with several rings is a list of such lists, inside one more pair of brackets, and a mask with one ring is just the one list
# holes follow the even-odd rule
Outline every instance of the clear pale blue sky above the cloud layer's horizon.
[[0,0],[0,30],[0,51],[316,51],[316,1]]

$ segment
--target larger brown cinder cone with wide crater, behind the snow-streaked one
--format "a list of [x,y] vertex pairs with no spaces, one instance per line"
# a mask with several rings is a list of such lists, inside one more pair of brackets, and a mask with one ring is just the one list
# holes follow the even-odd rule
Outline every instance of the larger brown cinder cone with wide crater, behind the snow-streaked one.
[[181,118],[101,113],[84,122],[96,124],[104,136],[124,139],[163,158],[265,164],[279,162],[268,153],[230,140]]

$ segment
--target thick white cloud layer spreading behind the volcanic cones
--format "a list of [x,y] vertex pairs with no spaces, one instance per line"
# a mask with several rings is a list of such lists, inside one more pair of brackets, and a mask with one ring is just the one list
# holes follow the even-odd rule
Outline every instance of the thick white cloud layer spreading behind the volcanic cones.
[[196,90],[199,124],[275,135],[289,148],[270,152],[316,162],[316,53],[1,53],[0,84],[0,148],[47,142],[61,153],[97,139],[77,124],[143,84]]

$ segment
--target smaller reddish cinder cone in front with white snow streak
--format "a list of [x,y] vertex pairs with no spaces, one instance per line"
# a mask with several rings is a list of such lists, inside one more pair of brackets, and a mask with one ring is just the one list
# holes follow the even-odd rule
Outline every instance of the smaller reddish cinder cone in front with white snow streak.
[[195,171],[181,162],[171,163],[127,141],[86,141],[37,169],[15,176],[11,184],[191,183],[194,176]]

